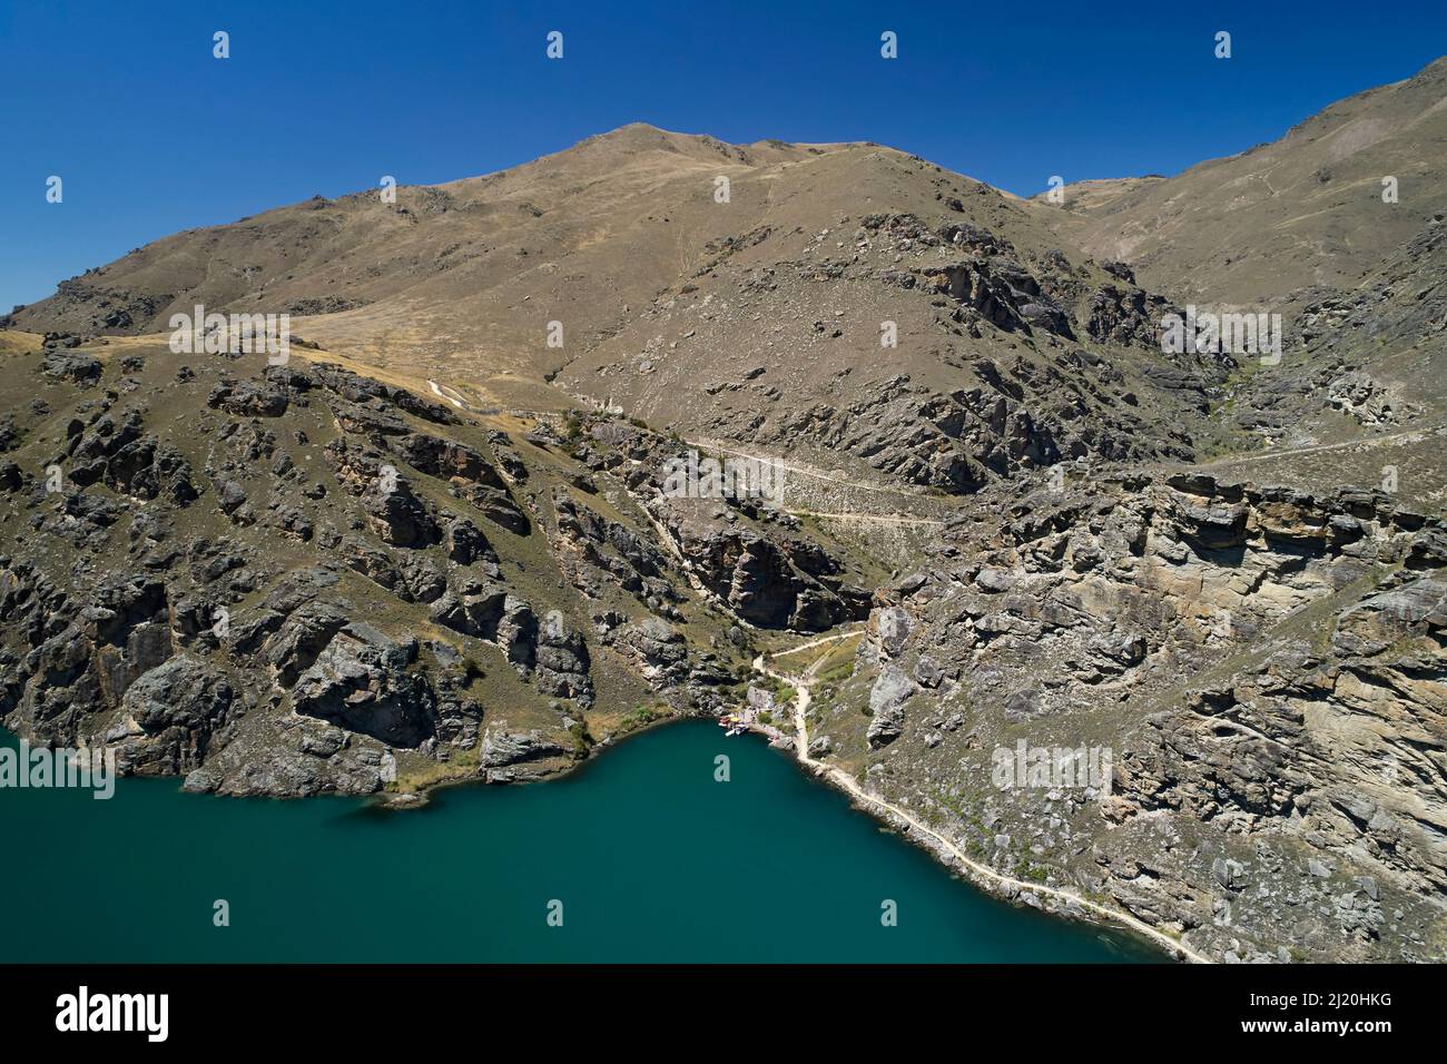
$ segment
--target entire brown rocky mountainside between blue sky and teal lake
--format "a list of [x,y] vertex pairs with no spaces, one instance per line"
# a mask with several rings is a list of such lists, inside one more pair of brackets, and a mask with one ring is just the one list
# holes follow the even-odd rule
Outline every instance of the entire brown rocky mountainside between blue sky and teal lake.
[[[864,792],[1197,954],[1441,960],[1443,71],[1064,208],[628,126],[137,249],[0,321],[0,721],[412,801],[806,706]],[[1163,350],[1192,301],[1282,358]],[[197,303],[307,339],[177,355]],[[1108,777],[997,786],[1020,743]]]

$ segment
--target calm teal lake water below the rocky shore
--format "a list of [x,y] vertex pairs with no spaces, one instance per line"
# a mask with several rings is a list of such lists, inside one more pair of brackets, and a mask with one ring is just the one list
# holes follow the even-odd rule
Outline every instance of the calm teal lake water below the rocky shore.
[[702,721],[561,780],[411,811],[177,780],[124,779],[110,801],[0,789],[0,963],[1162,958],[980,893],[787,756]]

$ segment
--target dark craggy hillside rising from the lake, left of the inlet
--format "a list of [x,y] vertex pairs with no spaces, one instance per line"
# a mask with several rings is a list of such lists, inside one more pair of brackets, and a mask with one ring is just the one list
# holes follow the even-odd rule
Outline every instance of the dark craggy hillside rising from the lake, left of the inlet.
[[124,772],[275,795],[553,772],[742,698],[731,612],[822,627],[878,579],[797,523],[710,540],[705,517],[702,599],[576,424],[512,434],[321,362],[7,336],[0,717]]

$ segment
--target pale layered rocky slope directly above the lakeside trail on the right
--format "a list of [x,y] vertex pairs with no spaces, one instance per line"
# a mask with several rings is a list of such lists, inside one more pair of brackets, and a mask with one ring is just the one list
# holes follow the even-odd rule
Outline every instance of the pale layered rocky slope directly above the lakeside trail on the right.
[[[855,693],[816,725],[833,750],[1001,870],[1214,955],[1431,955],[1441,523],[1383,492],[1204,475],[997,505],[881,594]],[[1110,786],[1001,789],[1017,743],[1106,747]]]

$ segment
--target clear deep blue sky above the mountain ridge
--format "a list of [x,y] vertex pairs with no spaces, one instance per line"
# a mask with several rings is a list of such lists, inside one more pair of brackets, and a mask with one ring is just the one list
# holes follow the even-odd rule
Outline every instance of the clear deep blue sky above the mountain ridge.
[[[878,140],[1030,194],[1272,140],[1447,52],[1441,0],[1095,9],[0,0],[0,310],[179,229],[382,174],[485,174],[628,122]],[[561,61],[544,56],[554,29]]]

